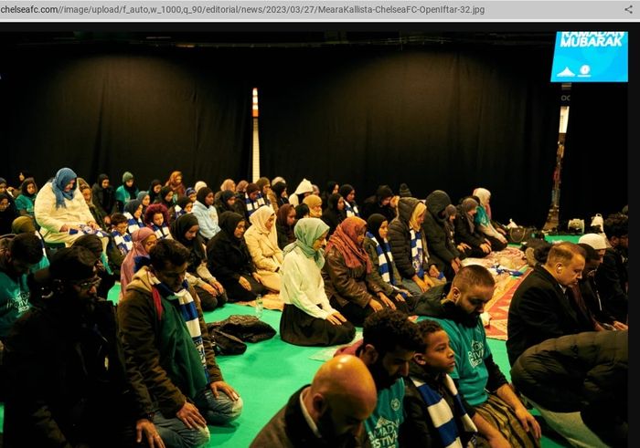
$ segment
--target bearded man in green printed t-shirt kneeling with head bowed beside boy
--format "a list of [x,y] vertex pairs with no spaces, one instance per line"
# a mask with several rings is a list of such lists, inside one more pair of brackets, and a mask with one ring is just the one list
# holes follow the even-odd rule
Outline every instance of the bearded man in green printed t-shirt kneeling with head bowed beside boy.
[[474,410],[472,420],[492,447],[539,446],[540,426],[517,398],[493,359],[480,315],[494,294],[496,282],[478,265],[464,266],[453,281],[433,287],[425,306],[440,322],[455,352],[451,377]]

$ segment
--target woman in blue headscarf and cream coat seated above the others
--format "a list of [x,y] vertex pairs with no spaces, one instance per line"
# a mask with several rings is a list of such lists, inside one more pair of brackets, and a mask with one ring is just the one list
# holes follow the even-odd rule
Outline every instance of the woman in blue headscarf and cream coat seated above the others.
[[[45,243],[71,245],[82,234],[100,231],[84,196],[77,188],[77,175],[70,168],[60,168],[56,176],[40,189],[34,214]],[[102,249],[109,237],[101,234]]]

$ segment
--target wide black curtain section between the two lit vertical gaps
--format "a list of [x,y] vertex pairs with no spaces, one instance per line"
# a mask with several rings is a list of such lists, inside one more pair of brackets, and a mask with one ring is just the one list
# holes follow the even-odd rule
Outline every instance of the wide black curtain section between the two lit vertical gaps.
[[261,79],[262,170],[292,192],[306,177],[351,183],[360,203],[380,183],[453,203],[483,186],[494,217],[544,224],[560,87],[552,47],[274,52]]

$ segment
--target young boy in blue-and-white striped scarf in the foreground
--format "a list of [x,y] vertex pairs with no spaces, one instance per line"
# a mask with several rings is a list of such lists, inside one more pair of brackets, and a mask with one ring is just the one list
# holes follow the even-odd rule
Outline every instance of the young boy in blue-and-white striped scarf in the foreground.
[[411,362],[410,380],[405,381],[405,420],[400,426],[401,446],[475,446],[477,429],[448,375],[455,368],[449,336],[438,322],[418,322],[423,348]]

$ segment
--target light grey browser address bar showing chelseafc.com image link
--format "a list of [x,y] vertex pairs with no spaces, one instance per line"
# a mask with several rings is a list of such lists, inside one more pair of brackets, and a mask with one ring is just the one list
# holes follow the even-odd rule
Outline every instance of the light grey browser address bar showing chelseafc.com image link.
[[637,22],[623,1],[13,1],[0,22]]

